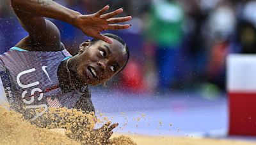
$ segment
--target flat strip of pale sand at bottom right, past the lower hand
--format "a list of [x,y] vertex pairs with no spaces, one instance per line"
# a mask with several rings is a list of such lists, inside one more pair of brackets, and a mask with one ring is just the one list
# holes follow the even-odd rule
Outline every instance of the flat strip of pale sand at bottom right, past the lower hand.
[[[117,137],[120,134],[113,134],[113,137]],[[157,144],[157,145],[255,145],[256,142],[248,141],[233,141],[227,139],[204,139],[196,137],[156,137],[146,135],[134,135],[125,134],[127,137],[131,137],[132,141],[139,145]]]

